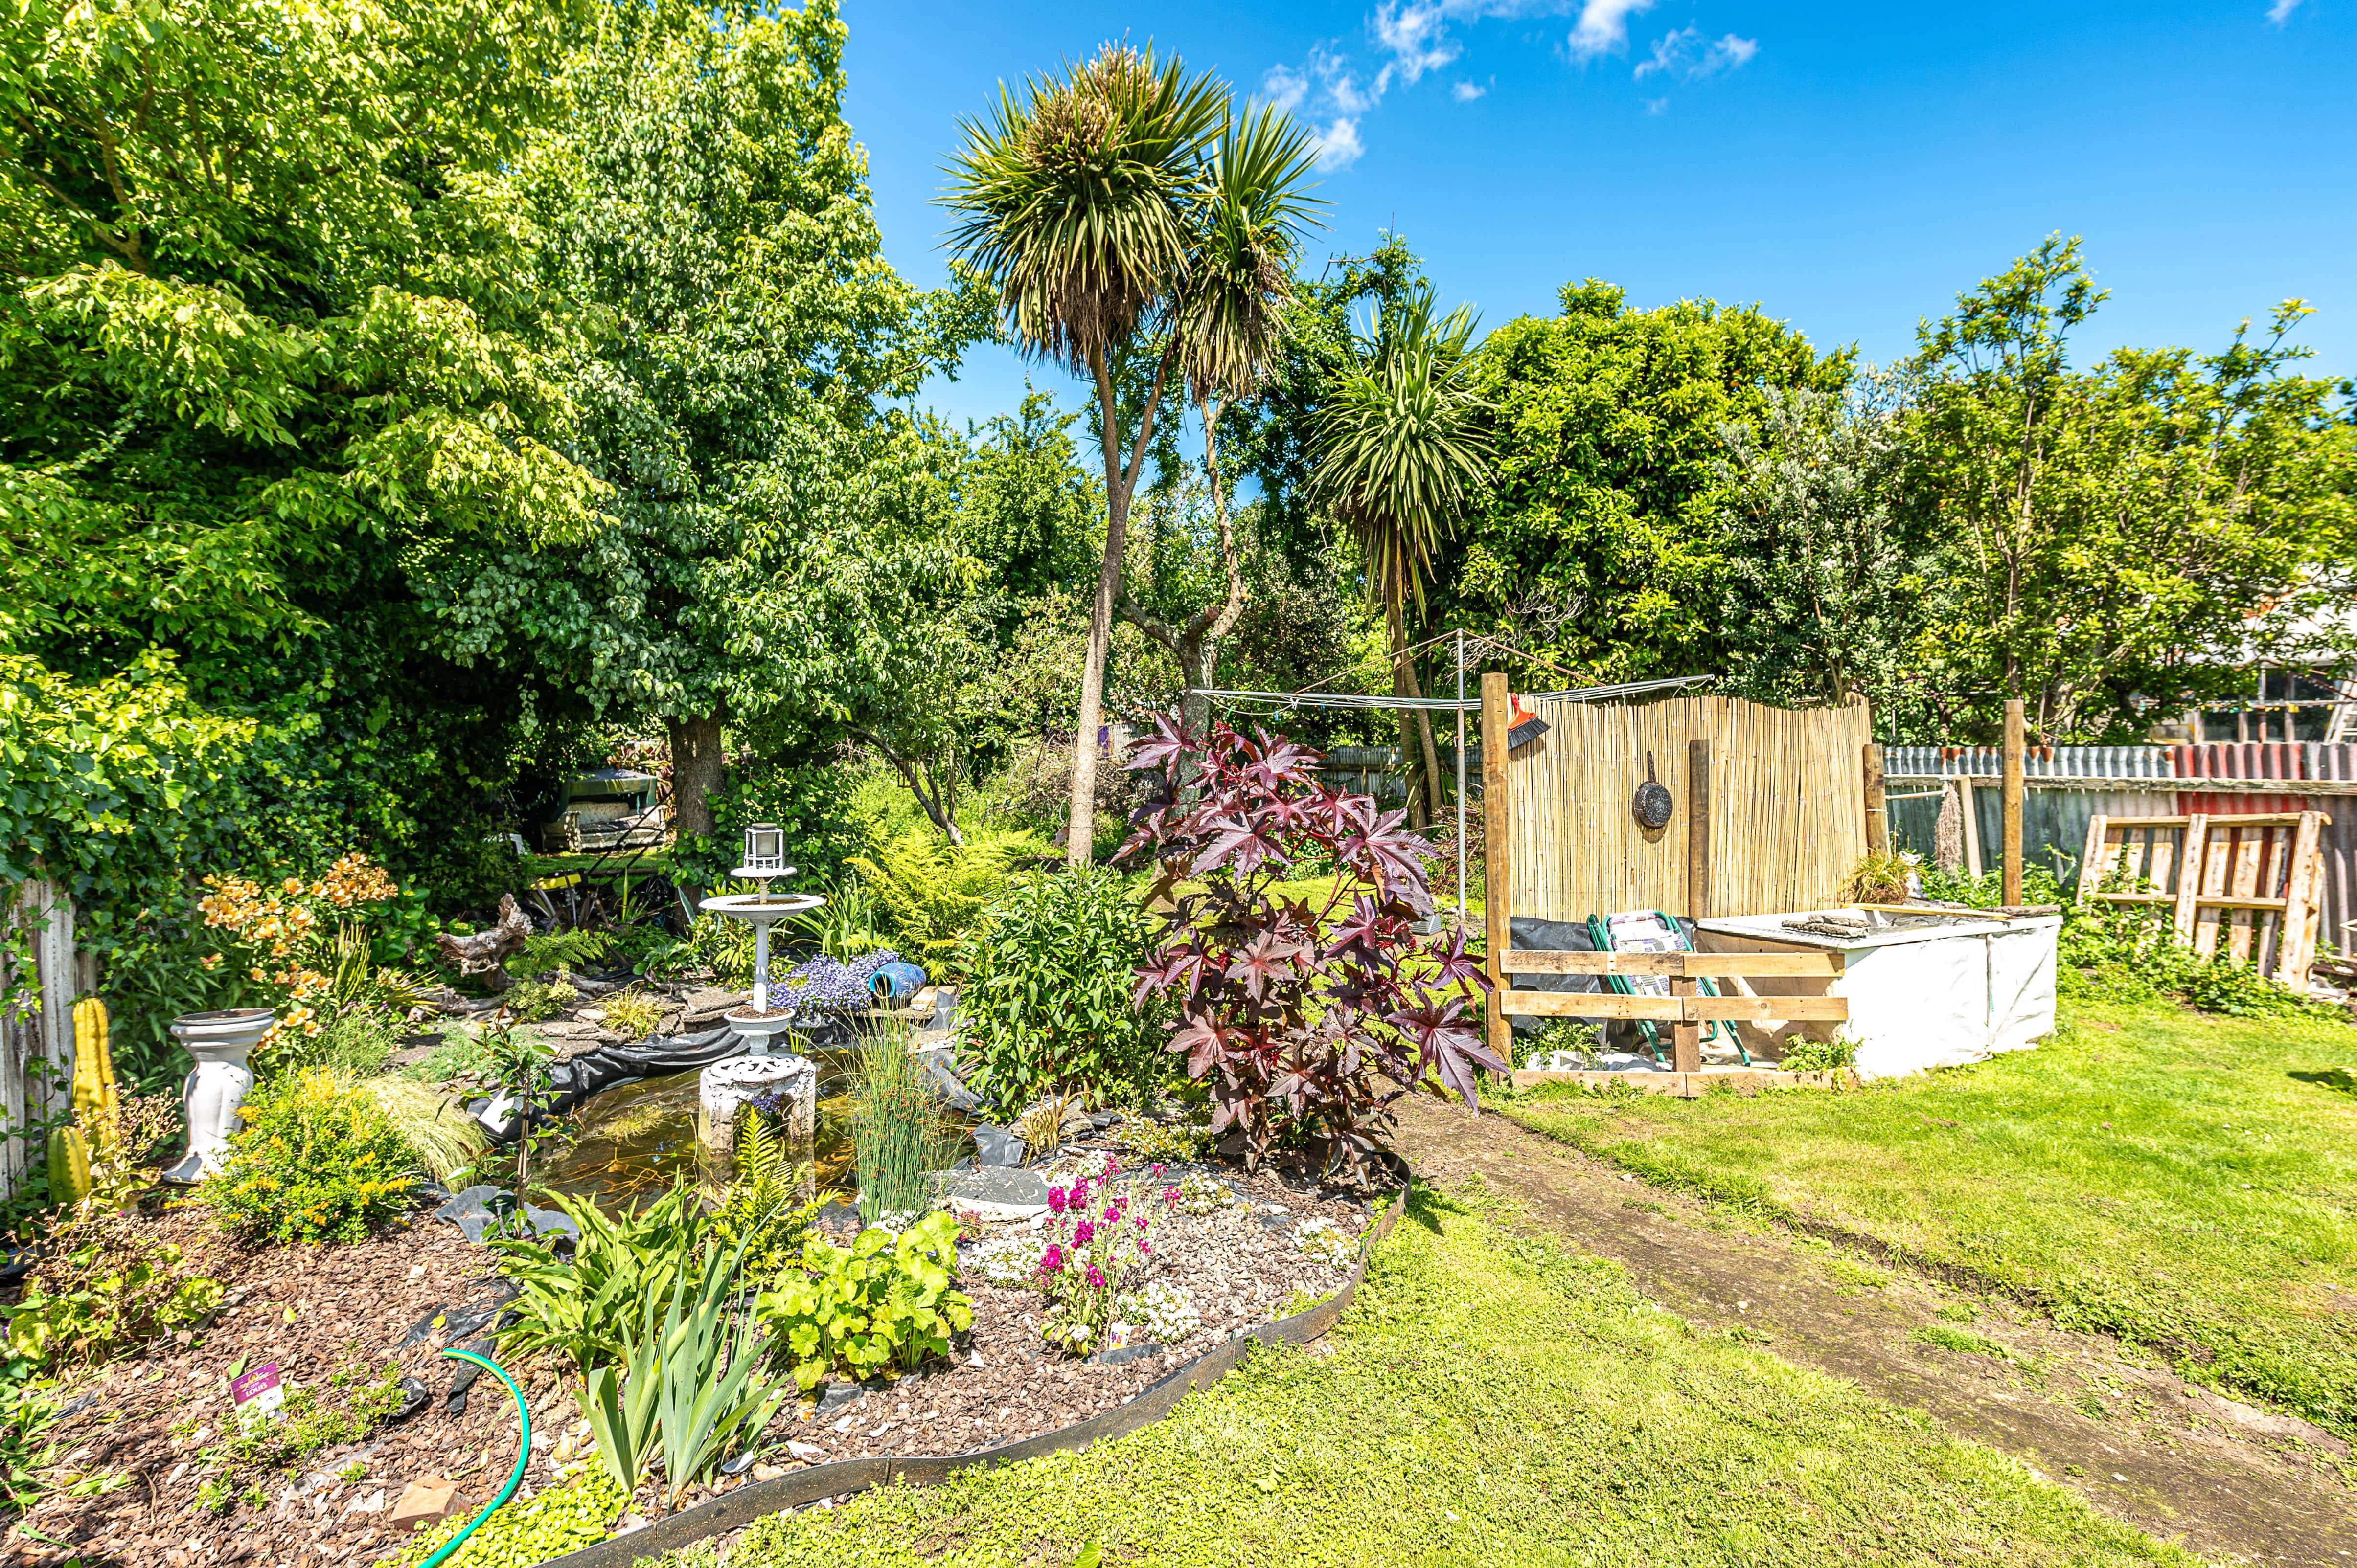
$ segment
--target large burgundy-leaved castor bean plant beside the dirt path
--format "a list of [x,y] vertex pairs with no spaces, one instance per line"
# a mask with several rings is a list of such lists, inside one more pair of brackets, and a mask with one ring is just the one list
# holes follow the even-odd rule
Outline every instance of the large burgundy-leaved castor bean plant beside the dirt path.
[[[1150,850],[1162,869],[1148,904],[1171,911],[1136,996],[1171,1010],[1171,1050],[1209,1085],[1214,1135],[1242,1132],[1254,1170],[1287,1144],[1365,1177],[1395,1099],[1438,1078],[1478,1109],[1473,1069],[1506,1064],[1480,1036],[1490,979],[1464,932],[1409,930],[1433,911],[1433,845],[1407,812],[1320,784],[1313,763],[1266,730],[1193,737],[1160,718],[1129,768],[1160,770],[1162,800],[1131,815],[1117,859]],[[1322,906],[1270,892],[1327,869]]]

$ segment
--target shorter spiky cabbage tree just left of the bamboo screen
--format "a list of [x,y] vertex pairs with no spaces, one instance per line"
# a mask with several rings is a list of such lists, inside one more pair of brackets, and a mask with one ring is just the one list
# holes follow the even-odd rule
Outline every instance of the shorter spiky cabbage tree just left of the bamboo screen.
[[[1318,494],[1358,537],[1367,593],[1384,605],[1391,633],[1391,690],[1419,699],[1407,655],[1407,605],[1424,610],[1433,553],[1480,501],[1490,476],[1490,412],[1473,388],[1473,311],[1440,315],[1431,290],[1414,290],[1376,315],[1360,358],[1318,414]],[[1400,753],[1421,739],[1421,796],[1409,822],[1440,810],[1433,720],[1400,711]]]

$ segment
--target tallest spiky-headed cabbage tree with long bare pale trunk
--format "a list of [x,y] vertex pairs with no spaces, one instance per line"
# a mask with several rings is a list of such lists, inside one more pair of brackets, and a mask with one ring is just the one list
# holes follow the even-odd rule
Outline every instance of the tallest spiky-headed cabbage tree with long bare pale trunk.
[[[1230,155],[1249,137],[1280,153],[1270,191],[1235,188],[1237,179],[1266,172]],[[1002,87],[985,118],[964,122],[964,146],[950,162],[943,200],[959,214],[955,242],[997,287],[1006,334],[1096,386],[1105,544],[1089,607],[1065,824],[1075,866],[1089,862],[1094,845],[1094,742],[1129,501],[1174,377],[1233,386],[1221,379],[1230,374],[1219,370],[1230,351],[1216,334],[1249,323],[1214,304],[1223,278],[1221,224],[1233,212],[1266,214],[1256,221],[1280,228],[1292,221],[1287,212],[1299,198],[1289,186],[1306,167],[1299,141],[1282,155],[1289,139],[1296,132],[1282,115],[1240,122],[1228,89],[1209,75],[1188,75],[1183,64],[1162,64],[1150,49],[1108,45],[1063,75],[1030,82],[1021,99]],[[1254,273],[1249,283],[1275,290],[1282,278]],[[1122,360],[1131,353],[1141,356],[1143,396],[1124,410]]]

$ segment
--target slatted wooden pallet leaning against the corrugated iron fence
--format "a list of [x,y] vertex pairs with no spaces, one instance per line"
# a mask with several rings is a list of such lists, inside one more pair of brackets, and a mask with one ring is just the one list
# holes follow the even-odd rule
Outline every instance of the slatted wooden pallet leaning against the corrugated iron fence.
[[2324,812],[2091,817],[2079,897],[2171,909],[2178,942],[2308,989],[2317,958]]

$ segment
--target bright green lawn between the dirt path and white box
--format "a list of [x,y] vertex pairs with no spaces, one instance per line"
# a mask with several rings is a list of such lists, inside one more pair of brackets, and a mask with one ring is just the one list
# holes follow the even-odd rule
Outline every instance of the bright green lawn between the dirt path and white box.
[[2051,1043],[1855,1092],[1532,1090],[1652,1182],[1834,1224],[2357,1436],[2357,1029],[2074,1005]]

